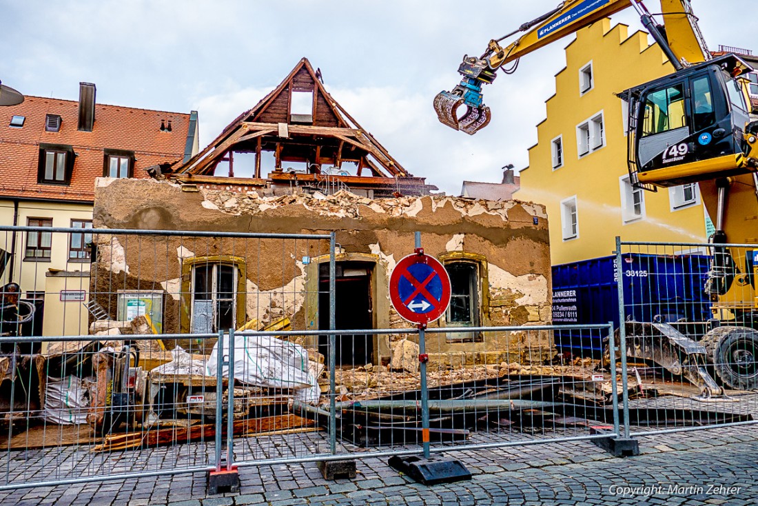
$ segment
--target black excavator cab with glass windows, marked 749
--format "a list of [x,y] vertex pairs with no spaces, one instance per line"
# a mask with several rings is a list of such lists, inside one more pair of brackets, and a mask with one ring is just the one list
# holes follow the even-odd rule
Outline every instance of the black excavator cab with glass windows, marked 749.
[[622,93],[631,181],[653,190],[756,171],[758,122],[738,80],[752,70],[725,55]]

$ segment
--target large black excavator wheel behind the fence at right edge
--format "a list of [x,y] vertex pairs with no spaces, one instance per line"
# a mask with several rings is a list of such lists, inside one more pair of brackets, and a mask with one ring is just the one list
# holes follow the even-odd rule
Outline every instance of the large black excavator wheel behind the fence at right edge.
[[724,385],[734,390],[758,389],[758,332],[753,328],[712,328],[700,344]]

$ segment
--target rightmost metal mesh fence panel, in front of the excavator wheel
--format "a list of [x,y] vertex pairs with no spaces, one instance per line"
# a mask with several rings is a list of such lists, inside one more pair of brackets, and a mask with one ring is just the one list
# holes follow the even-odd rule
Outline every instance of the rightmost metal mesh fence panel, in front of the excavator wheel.
[[755,423],[756,267],[755,244],[616,238],[627,435]]

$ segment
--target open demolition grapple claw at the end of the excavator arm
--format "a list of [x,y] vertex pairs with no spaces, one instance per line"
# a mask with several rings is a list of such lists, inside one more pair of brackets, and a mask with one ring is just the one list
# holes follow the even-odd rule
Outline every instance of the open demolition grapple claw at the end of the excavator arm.
[[[490,108],[482,103],[481,85],[495,80],[495,72],[482,58],[463,57],[458,68],[463,76],[461,83],[452,92],[441,91],[434,97],[434,110],[440,123],[468,135],[474,135],[490,122]],[[464,115],[458,115],[461,105],[466,105]]]

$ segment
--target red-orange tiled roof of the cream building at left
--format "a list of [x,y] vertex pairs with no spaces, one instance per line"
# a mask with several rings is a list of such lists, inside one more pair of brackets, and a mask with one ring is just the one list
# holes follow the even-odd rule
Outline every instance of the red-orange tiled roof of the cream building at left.
[[[103,175],[103,149],[134,152],[134,177],[145,168],[175,162],[184,155],[189,114],[95,105],[91,132],[77,130],[79,102],[27,96],[20,105],[0,107],[0,197],[91,201],[95,178]],[[45,131],[46,115],[60,115],[61,129]],[[22,128],[10,127],[14,115],[26,117]],[[161,132],[161,120],[171,132]],[[77,157],[69,185],[38,184],[39,143],[66,144]]]

